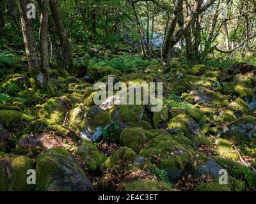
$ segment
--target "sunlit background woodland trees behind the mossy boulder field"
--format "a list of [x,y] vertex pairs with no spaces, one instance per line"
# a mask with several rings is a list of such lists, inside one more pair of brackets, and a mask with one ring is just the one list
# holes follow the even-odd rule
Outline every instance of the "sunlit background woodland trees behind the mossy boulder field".
[[[33,50],[29,52],[29,66],[32,62],[34,67],[40,64],[42,68],[36,70],[42,69],[43,73],[49,69],[49,62],[56,63],[60,70],[71,71],[72,49],[86,43],[113,49],[129,45],[133,48],[126,51],[144,59],[161,58],[164,69],[168,69],[173,50],[177,49],[193,62],[213,56],[255,56],[253,0],[49,0],[48,9],[44,2],[32,1],[40,14],[35,20],[26,20],[26,9],[19,11],[13,0],[0,1],[0,36],[10,31],[19,33],[22,25],[27,52],[28,48]],[[30,1],[22,5],[25,3]],[[19,15],[22,24],[17,20]],[[39,36],[33,34],[35,31]],[[10,38],[6,36],[3,38]],[[39,47],[36,41],[40,41]],[[42,60],[37,60],[36,55]]]

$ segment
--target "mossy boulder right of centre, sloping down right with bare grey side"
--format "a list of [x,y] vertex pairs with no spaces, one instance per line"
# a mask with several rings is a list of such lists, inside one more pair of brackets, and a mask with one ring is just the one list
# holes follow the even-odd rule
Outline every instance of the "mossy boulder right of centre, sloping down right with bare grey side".
[[211,144],[208,138],[205,137],[202,129],[196,124],[195,120],[188,117],[188,115],[180,114],[170,119],[168,129],[177,128],[180,129],[184,136],[196,143],[200,144]]

